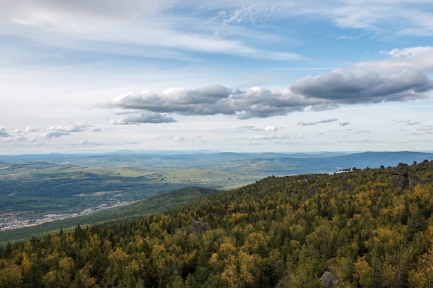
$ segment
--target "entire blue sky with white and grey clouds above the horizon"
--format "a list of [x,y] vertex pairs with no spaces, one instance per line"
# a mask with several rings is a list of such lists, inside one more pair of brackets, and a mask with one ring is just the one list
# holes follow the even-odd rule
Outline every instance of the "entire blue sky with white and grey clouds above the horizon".
[[0,155],[432,151],[431,0],[0,0]]

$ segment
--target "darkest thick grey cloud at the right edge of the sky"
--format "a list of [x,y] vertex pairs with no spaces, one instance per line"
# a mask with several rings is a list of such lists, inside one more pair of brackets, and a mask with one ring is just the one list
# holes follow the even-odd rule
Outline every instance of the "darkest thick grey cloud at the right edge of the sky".
[[337,69],[317,77],[297,79],[291,86],[293,93],[337,104],[421,99],[432,88],[433,81],[417,70],[381,75],[374,71]]

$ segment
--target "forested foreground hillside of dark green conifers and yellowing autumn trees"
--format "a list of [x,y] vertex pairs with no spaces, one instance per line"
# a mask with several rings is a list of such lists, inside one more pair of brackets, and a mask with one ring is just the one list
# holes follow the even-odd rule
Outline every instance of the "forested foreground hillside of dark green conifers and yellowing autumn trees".
[[432,287],[433,162],[267,177],[0,249],[0,287]]

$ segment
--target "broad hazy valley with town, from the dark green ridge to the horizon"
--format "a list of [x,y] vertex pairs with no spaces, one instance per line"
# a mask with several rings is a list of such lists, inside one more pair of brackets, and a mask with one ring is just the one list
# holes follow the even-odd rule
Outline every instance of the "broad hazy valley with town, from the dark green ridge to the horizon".
[[433,154],[0,155],[0,231],[91,215],[187,186],[229,190],[269,175],[333,173],[426,159]]

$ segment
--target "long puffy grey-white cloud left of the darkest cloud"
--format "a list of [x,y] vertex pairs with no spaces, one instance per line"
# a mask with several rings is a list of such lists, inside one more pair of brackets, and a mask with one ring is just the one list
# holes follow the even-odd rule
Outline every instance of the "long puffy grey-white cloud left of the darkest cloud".
[[278,91],[259,87],[231,90],[219,84],[198,89],[169,88],[162,93],[145,90],[127,93],[107,105],[124,109],[145,110],[179,115],[235,115],[239,119],[286,115],[299,111],[310,102],[289,90]]

